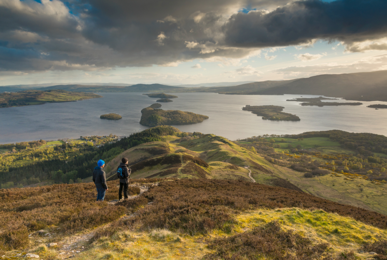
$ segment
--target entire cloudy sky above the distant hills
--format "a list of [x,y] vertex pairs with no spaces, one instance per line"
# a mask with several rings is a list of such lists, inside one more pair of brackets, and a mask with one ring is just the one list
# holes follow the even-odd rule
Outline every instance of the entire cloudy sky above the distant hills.
[[386,0],[0,0],[0,85],[387,70]]

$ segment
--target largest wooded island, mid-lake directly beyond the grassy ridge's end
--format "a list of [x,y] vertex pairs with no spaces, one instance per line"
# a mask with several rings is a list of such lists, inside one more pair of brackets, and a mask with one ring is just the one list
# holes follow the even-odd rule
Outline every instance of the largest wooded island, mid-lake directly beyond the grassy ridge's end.
[[153,109],[152,107],[142,109],[141,113],[140,124],[143,126],[196,124],[209,118],[192,112]]

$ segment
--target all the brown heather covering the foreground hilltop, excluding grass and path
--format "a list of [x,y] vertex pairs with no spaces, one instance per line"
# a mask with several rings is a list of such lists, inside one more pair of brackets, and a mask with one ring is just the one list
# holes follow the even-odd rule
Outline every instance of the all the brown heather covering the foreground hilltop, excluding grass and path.
[[[232,235],[233,225],[237,223],[236,215],[248,209],[323,209],[379,228],[387,228],[385,215],[281,187],[209,179],[155,178],[130,182],[159,182],[159,185],[149,185],[149,190],[136,199],[111,206],[106,202],[95,201],[96,192],[92,183],[1,190],[0,250],[27,245],[27,235],[31,231],[48,225],[59,226],[63,234],[71,234],[111,223],[99,227],[94,240],[132,228],[145,231],[149,228],[167,228],[190,235],[205,234],[217,228]],[[108,182],[110,188],[106,201],[117,199],[117,184],[118,181]],[[138,187],[130,190],[130,194],[138,192]],[[152,206],[143,207],[149,202],[153,202]],[[120,218],[133,211],[136,211],[134,218]],[[216,238],[215,241],[209,241],[209,246],[214,253],[207,255],[207,259],[258,258],[258,247],[262,248],[261,253],[271,259],[308,260],[312,259],[311,252],[316,252],[318,259],[355,259],[351,252],[335,256],[336,258],[327,258],[327,245],[316,244],[304,236],[284,231],[276,222],[243,234]],[[387,249],[384,241],[365,246],[367,249],[383,252]],[[295,258],[286,258],[290,252],[296,252]],[[384,255],[381,252],[378,256]]]

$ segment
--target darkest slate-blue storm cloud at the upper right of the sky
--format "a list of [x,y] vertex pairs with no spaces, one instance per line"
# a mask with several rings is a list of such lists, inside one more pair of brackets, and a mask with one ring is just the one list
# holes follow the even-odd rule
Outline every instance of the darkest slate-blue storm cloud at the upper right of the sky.
[[238,47],[289,46],[312,39],[346,43],[387,36],[387,1],[298,1],[268,14],[238,13],[224,25],[225,42]]

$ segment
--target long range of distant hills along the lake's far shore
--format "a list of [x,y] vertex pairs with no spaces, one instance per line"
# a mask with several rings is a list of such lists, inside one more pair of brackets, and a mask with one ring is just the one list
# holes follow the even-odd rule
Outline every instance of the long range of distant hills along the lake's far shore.
[[[230,82],[207,83],[212,85]],[[235,82],[240,83],[240,82]],[[201,84],[197,84],[201,85]],[[162,84],[109,85],[54,85],[36,90],[62,89],[77,92],[213,92],[229,95],[324,95],[347,100],[387,101],[387,70],[349,74],[325,74],[294,80],[249,82],[225,87],[197,85],[170,86]],[[188,87],[191,86],[191,87]],[[192,87],[194,86],[194,87]],[[12,90],[8,90],[12,88]],[[3,91],[20,91],[17,86],[0,87]],[[23,88],[22,90],[25,90]]]

